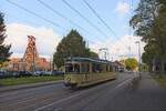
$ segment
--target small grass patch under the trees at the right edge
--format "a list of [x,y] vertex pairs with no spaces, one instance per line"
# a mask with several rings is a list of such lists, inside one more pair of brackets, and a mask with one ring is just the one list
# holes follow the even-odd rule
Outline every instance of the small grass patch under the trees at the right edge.
[[153,75],[154,80],[156,80],[163,88],[166,88],[166,74],[162,75]]

